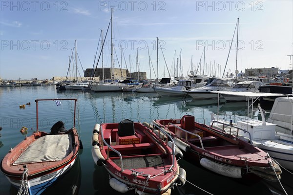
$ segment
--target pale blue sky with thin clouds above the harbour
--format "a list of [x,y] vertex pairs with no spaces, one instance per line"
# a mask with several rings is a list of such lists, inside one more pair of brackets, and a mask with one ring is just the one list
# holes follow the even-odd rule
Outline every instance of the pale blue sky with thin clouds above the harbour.
[[112,8],[116,68],[145,71],[147,78],[157,76],[157,65],[159,78],[190,70],[222,77],[236,64],[239,72],[292,69],[293,0],[0,0],[0,78],[66,76],[75,40],[83,75],[96,67],[101,29],[103,65],[111,67]]

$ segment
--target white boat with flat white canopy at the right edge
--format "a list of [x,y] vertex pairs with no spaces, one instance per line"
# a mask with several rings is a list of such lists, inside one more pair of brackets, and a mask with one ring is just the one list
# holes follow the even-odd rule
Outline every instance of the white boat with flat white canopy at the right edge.
[[[217,91],[219,94],[233,94],[231,91]],[[236,95],[236,94],[235,94]],[[278,98],[278,93],[256,93],[256,92],[237,92],[237,95],[248,97],[247,115],[246,116],[230,116],[223,114],[211,113],[211,122],[215,122],[214,128],[228,130],[231,134],[238,134],[237,127],[246,129],[246,132],[239,132],[240,138],[248,141],[251,137],[252,144],[261,150],[268,152],[269,155],[277,161],[281,168],[293,170],[293,135],[291,132],[293,117],[293,102],[291,97]],[[287,95],[289,96],[289,95]],[[261,97],[277,97],[269,118],[266,120],[265,113],[261,105],[257,110],[253,110],[253,103]],[[250,111],[251,109],[251,111]],[[254,112],[260,113],[261,119],[253,119]],[[251,116],[250,116],[251,114]],[[230,119],[227,120],[227,119]],[[225,125],[224,125],[225,124]],[[230,126],[227,126],[229,125]]]

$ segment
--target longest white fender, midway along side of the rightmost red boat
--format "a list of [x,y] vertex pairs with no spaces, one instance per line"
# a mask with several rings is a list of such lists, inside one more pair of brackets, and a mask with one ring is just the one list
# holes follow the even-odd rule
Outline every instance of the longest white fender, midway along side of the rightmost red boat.
[[241,168],[236,168],[232,166],[223,165],[214,161],[211,161],[207,158],[200,159],[200,164],[204,168],[232,178],[242,178]]

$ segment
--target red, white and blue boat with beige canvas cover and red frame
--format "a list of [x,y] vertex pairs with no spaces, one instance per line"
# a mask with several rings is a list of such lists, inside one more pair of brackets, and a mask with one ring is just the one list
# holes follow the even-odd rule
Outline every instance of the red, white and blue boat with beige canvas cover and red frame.
[[[40,131],[38,126],[38,103],[63,100],[74,101],[76,108],[77,99],[36,100],[37,130],[32,135],[25,136],[1,161],[1,172],[13,186],[19,188],[19,194],[41,194],[63,173],[70,170],[77,160],[82,146],[75,128],[75,111],[73,128],[69,130],[65,130],[62,121],[55,123],[49,133]],[[21,130],[25,131],[24,128]]]

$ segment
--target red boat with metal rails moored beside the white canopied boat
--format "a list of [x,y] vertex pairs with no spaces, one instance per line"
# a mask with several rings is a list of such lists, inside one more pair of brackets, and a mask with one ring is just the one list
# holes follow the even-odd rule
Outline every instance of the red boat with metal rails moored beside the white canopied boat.
[[233,178],[247,178],[253,174],[271,181],[280,178],[281,169],[269,154],[253,146],[252,142],[239,139],[238,135],[235,137],[197,123],[190,115],[153,123],[171,134],[185,159],[212,172]]

